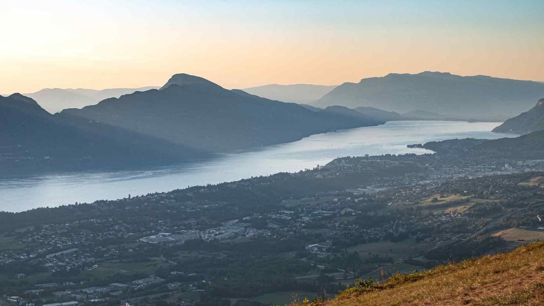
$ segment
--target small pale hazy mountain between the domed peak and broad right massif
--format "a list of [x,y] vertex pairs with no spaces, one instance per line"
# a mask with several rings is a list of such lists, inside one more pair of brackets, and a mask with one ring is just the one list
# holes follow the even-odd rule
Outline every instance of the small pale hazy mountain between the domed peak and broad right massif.
[[244,91],[270,100],[308,104],[320,99],[325,94],[336,88],[336,86],[337,85],[325,86],[310,84],[270,84],[258,87],[245,88]]

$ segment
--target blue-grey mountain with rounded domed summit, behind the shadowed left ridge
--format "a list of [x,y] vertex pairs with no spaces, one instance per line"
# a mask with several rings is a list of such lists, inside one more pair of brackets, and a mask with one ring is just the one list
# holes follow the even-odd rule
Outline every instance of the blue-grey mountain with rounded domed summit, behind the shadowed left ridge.
[[292,142],[316,133],[384,123],[369,117],[313,112],[198,76],[176,74],[160,90],[110,98],[60,117],[98,121],[164,141],[207,151]]

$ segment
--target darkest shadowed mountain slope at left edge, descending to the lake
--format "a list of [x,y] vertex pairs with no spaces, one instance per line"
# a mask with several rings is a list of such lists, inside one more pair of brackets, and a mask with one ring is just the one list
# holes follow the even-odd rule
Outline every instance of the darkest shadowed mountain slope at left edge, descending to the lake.
[[200,158],[202,152],[100,122],[61,118],[15,93],[0,97],[0,173]]

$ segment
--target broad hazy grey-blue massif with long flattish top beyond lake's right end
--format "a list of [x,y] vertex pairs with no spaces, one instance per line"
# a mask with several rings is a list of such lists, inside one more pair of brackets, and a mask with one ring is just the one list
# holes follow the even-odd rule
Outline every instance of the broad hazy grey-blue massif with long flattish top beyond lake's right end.
[[542,96],[544,84],[533,81],[440,72],[391,73],[344,83],[311,105],[371,106],[400,113],[425,110],[453,118],[505,120],[529,109]]

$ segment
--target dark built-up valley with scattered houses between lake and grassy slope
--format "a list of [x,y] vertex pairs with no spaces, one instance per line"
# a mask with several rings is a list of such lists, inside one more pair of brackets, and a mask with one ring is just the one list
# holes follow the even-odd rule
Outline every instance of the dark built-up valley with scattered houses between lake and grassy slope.
[[544,160],[344,157],[2,213],[0,304],[268,304],[281,292],[317,296],[355,278],[508,251],[544,233],[540,171]]

